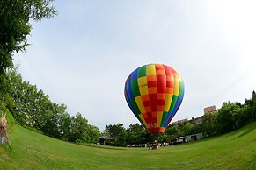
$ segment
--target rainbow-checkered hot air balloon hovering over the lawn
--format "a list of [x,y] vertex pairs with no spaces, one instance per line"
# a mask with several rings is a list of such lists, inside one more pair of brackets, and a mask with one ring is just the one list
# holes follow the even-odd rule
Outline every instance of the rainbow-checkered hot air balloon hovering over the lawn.
[[129,108],[149,133],[163,133],[184,96],[180,75],[164,64],[138,67],[125,82]]

